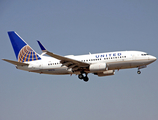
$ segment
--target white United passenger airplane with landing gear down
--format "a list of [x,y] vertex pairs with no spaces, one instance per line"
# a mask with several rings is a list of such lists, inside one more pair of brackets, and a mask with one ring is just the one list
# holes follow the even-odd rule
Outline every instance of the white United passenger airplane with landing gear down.
[[[36,53],[16,32],[8,32],[17,61],[2,59],[16,66],[17,69],[40,74],[66,75],[76,74],[87,82],[88,74],[99,77],[114,75],[115,70],[140,69],[156,61],[156,57],[141,51],[115,51],[86,55],[61,56],[48,51],[37,41],[42,54]],[[47,56],[45,56],[45,54]]]

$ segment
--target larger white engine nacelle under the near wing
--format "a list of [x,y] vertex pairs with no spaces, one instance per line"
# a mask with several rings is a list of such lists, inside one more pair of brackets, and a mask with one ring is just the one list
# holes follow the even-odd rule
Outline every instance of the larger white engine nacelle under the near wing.
[[106,70],[106,63],[94,63],[89,66],[90,72],[102,72]]

